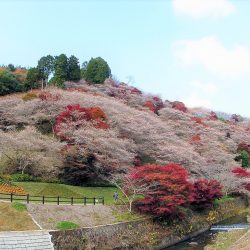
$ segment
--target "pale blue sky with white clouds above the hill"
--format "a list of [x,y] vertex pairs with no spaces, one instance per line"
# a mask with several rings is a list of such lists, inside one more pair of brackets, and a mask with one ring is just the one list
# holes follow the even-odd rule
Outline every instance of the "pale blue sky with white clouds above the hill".
[[248,0],[0,0],[0,65],[65,53],[189,107],[250,117]]

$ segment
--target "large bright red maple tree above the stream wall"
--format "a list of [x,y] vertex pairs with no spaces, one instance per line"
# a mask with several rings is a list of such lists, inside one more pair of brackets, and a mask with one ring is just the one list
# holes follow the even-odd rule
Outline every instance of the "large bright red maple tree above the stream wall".
[[187,171],[178,164],[144,165],[135,168],[131,178],[149,189],[137,204],[139,210],[157,216],[183,216],[181,207],[192,199],[192,184]]

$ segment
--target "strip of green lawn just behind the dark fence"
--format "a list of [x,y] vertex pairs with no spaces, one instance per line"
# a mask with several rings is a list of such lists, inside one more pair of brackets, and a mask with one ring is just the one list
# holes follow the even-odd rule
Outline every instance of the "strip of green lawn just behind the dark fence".
[[[104,197],[105,204],[111,205],[113,194],[117,190],[115,187],[80,187],[56,183],[40,182],[15,182],[17,186],[23,187],[30,195],[37,196],[60,196],[60,197]],[[122,198],[120,192],[119,197]]]

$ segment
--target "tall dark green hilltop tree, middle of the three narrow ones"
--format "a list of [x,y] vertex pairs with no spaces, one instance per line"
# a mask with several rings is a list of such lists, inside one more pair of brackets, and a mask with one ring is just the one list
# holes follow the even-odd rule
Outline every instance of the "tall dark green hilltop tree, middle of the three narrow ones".
[[65,54],[55,58],[55,74],[51,82],[58,87],[64,87],[64,82],[68,79],[68,58]]

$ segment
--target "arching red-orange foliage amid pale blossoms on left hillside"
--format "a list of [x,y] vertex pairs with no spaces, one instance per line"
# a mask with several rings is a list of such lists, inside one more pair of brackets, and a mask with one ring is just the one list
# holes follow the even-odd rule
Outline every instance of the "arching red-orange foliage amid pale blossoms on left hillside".
[[67,140],[61,135],[63,127],[67,127],[67,129],[77,129],[87,121],[91,122],[96,128],[108,129],[109,125],[106,123],[106,120],[106,114],[99,107],[83,108],[79,104],[68,105],[65,110],[57,116],[54,131],[56,135]]

